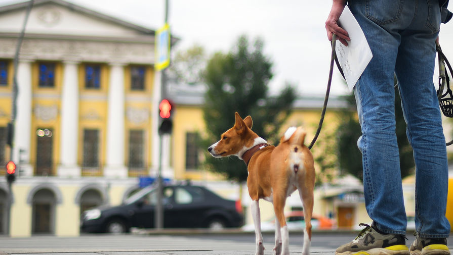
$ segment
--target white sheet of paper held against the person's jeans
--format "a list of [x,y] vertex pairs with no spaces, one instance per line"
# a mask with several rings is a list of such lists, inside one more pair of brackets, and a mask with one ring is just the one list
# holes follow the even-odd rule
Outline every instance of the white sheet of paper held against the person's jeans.
[[349,38],[348,46],[345,46],[340,41],[335,45],[338,62],[343,69],[346,83],[350,91],[357,83],[357,80],[362,75],[363,70],[368,65],[369,61],[373,58],[371,49],[366,41],[362,29],[355,20],[348,6],[345,7],[343,13],[338,21],[339,25],[345,29]]

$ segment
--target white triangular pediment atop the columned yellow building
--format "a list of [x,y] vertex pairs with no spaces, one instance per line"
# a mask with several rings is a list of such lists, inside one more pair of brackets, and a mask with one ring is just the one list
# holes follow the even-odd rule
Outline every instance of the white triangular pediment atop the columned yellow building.
[[[35,0],[26,33],[43,35],[140,37],[144,28],[63,0]],[[0,33],[19,33],[28,2],[0,7]]]

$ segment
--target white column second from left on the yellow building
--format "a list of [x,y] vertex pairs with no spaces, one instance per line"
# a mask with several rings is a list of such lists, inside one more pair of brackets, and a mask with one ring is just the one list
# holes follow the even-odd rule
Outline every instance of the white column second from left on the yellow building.
[[63,67],[63,87],[61,92],[61,138],[60,165],[57,175],[60,177],[80,176],[77,166],[78,148],[78,72],[77,62],[65,61]]

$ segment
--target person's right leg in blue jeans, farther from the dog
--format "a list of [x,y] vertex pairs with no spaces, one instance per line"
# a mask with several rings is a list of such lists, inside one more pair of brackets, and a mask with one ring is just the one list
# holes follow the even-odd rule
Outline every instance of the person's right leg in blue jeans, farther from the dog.
[[448,166],[433,84],[440,11],[436,1],[417,4],[413,23],[401,34],[395,72],[416,163],[417,233],[420,237],[444,238],[450,232],[445,217]]

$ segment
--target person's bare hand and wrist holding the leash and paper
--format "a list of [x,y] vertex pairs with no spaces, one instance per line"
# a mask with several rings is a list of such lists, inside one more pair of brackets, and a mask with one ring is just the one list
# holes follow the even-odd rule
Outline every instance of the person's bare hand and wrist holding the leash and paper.
[[345,9],[345,6],[345,0],[334,0],[331,12],[327,17],[327,20],[325,21],[325,30],[327,32],[328,40],[332,41],[332,34],[336,34],[337,39],[340,40],[344,45],[348,46],[348,41],[351,40],[349,38],[349,34],[346,30],[338,25],[338,19]]

